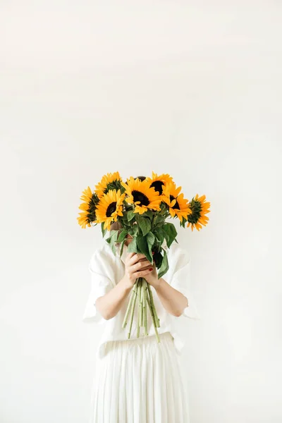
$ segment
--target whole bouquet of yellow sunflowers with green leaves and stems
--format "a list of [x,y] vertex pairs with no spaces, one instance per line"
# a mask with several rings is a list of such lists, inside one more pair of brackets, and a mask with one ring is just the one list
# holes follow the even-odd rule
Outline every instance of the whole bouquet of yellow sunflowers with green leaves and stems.
[[[209,218],[210,203],[206,202],[205,195],[195,195],[191,201],[184,198],[181,187],[177,187],[173,178],[168,174],[157,175],[152,172],[152,177],[130,176],[124,182],[118,172],[107,173],[102,180],[95,185],[92,192],[88,186],[82,192],[79,209],[80,216],[77,218],[82,228],[101,224],[102,235],[110,231],[109,243],[116,254],[116,243],[120,243],[120,257],[123,254],[123,245],[130,235],[131,242],[128,252],[142,253],[155,263],[158,278],[168,271],[168,259],[166,250],[162,247],[164,240],[168,248],[176,240],[176,228],[173,223],[166,221],[168,218],[179,219],[180,226],[190,227],[198,231],[206,226]],[[112,223],[118,221],[120,228],[111,230]],[[178,241],[176,240],[176,243]],[[153,260],[154,255],[154,260]],[[145,278],[137,278],[130,293],[130,300],[123,320],[123,328],[130,319],[128,338],[133,325],[135,305],[137,312],[137,338],[140,336],[140,327],[147,331],[147,309],[152,317],[154,331],[159,342],[160,321],[154,307],[151,286]]]

